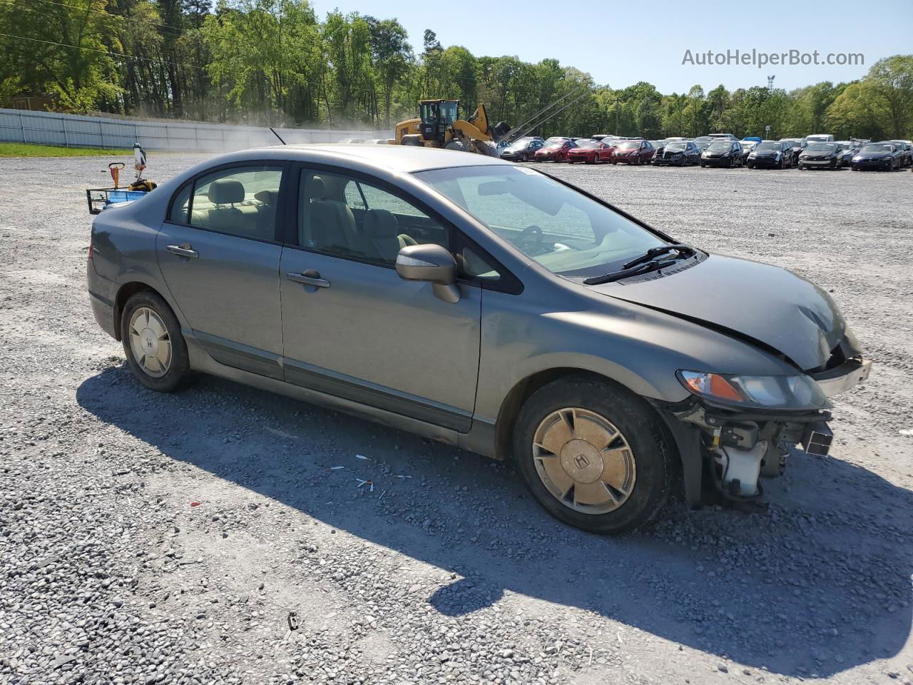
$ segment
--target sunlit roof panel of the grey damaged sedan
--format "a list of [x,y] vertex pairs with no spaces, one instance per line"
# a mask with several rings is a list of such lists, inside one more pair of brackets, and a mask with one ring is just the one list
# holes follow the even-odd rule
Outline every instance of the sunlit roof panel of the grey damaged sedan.
[[[464,153],[458,150],[441,150],[418,145],[365,145],[363,143],[307,143],[299,145],[270,145],[245,151],[250,158],[257,158],[257,151],[281,149],[287,151],[289,159],[307,161],[312,159],[310,153],[320,153],[323,161],[325,155],[338,156],[341,160],[359,160],[397,171],[411,174],[426,169],[442,169],[453,166],[482,166],[484,164],[510,164],[497,157],[484,154]],[[243,156],[247,156],[244,154]],[[312,160],[317,161],[317,160]]]

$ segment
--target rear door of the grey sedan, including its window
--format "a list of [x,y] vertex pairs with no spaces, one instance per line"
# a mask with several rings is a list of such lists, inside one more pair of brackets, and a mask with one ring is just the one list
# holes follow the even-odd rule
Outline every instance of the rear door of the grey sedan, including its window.
[[175,194],[159,268],[193,335],[218,362],[281,377],[278,206],[287,165],[232,164]]

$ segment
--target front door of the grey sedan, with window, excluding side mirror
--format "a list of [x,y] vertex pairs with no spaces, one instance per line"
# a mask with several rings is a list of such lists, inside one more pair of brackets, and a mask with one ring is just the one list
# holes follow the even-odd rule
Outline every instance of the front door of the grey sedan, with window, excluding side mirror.
[[455,230],[383,182],[300,168],[280,272],[285,379],[466,432],[475,406],[481,290],[446,302],[401,279],[399,249]]

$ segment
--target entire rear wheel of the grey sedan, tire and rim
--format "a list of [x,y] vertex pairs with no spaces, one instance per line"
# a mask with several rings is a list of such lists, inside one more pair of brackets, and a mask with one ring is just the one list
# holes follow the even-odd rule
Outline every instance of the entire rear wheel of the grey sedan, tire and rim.
[[127,300],[121,314],[121,340],[133,374],[152,390],[170,393],[190,373],[181,324],[168,303],[151,290]]

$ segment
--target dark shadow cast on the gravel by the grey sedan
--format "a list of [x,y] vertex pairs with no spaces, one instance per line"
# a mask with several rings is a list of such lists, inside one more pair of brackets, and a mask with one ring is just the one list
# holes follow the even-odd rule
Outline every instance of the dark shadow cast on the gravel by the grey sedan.
[[428,597],[448,616],[525,595],[558,625],[578,607],[798,677],[892,657],[910,632],[913,493],[840,459],[796,459],[767,513],[673,503],[604,538],[553,521],[489,459],[219,379],[158,395],[110,367],[77,400],[168,458],[452,572]]

